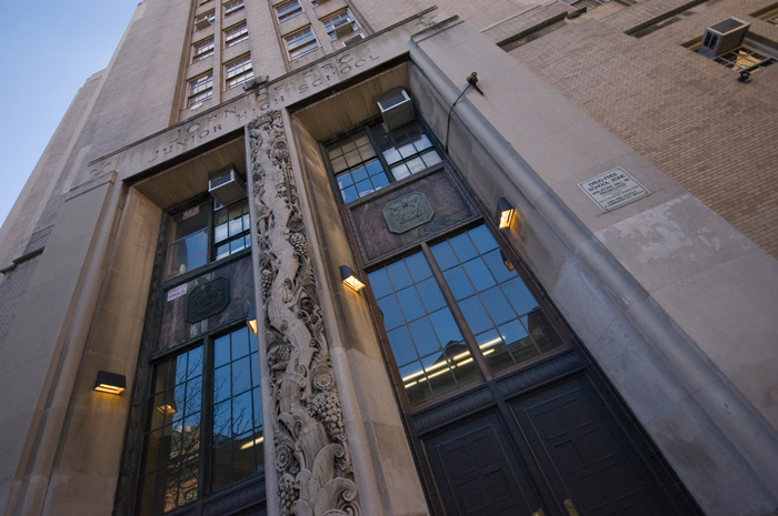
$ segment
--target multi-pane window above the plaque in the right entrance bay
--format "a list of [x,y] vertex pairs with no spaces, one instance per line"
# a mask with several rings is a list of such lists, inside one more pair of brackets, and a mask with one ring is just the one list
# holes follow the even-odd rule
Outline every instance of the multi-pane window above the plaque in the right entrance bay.
[[418,122],[387,132],[376,124],[327,146],[345,203],[440,163]]

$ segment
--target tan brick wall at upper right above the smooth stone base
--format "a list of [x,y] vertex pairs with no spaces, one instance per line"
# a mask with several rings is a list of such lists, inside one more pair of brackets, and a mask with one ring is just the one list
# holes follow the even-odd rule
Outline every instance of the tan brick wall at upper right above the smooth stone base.
[[749,17],[769,2],[706,2],[641,39],[624,33],[681,3],[606,4],[510,54],[778,257],[778,64],[742,84],[681,47],[730,17],[778,42],[778,27]]

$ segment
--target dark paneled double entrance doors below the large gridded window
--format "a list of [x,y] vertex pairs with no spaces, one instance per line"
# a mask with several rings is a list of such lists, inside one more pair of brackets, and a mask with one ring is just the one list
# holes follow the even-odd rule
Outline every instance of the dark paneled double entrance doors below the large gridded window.
[[569,351],[412,417],[435,513],[698,514],[577,364]]

